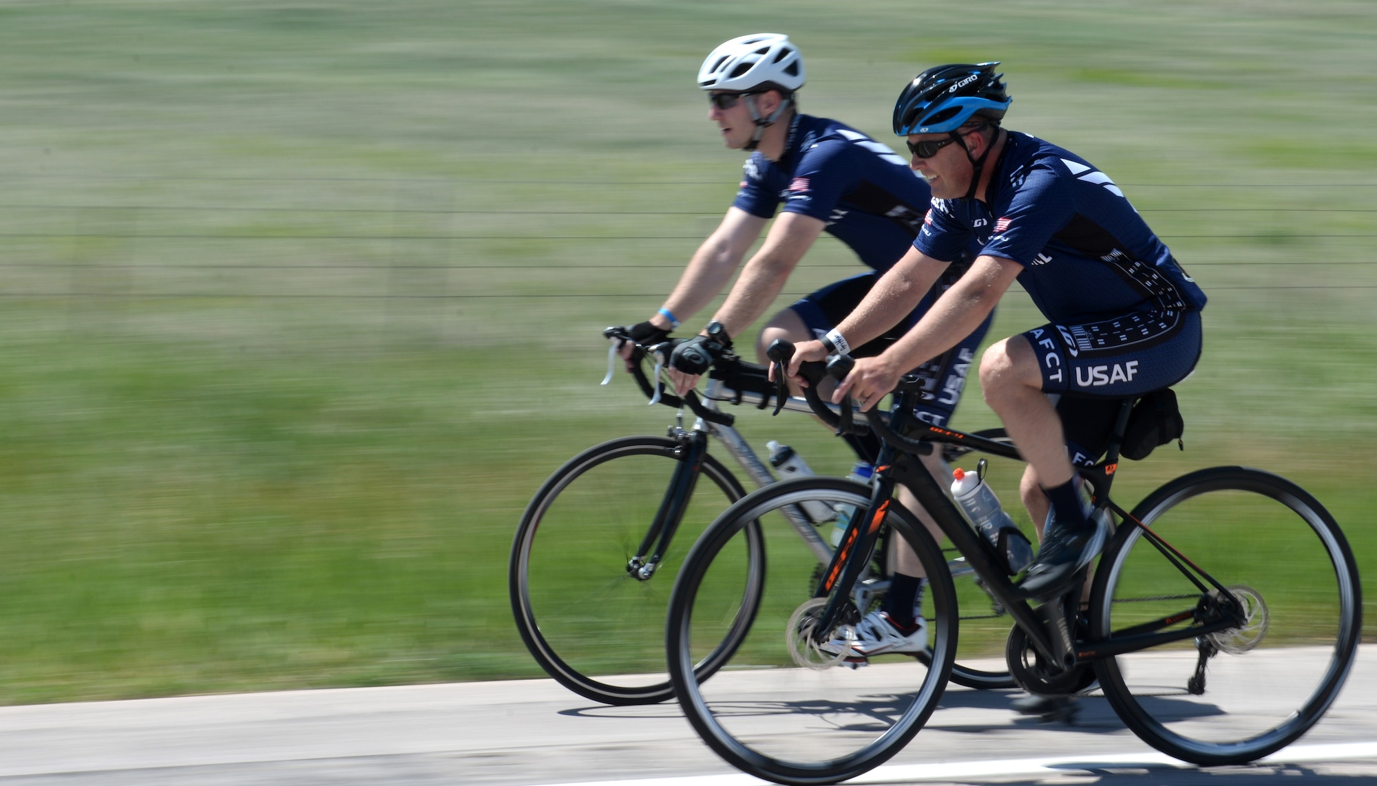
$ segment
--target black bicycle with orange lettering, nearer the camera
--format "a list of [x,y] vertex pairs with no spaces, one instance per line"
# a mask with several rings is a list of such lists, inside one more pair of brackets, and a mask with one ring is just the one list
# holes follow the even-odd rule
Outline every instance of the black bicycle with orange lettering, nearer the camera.
[[[771,357],[788,360],[792,348],[784,349],[779,356],[772,349]],[[830,361],[837,378],[847,367],[845,357]],[[810,374],[818,377],[817,370]],[[1122,508],[1110,499],[1110,485],[1133,404],[1126,400],[1106,459],[1082,470],[1093,488],[1093,515],[1117,518],[1093,563],[1088,606],[1082,610],[1080,598],[1091,566],[1075,590],[1034,607],[985,537],[916,469],[917,456],[943,444],[1009,456],[1015,448],[906,420],[912,396],[912,386],[901,383],[890,423],[868,412],[884,440],[872,486],[814,477],[752,492],[686,558],[669,605],[669,672],[690,723],[717,754],[778,783],[834,783],[888,760],[927,723],[956,653],[957,609],[938,544],[892,499],[901,482],[1007,607],[1013,629],[1005,658],[1023,688],[1074,695],[1097,679],[1139,738],[1199,765],[1267,756],[1325,713],[1352,665],[1362,600],[1352,552],[1315,497],[1279,475],[1227,466],[1188,473],[1132,511]],[[819,416],[830,415],[815,393],[808,401]],[[844,404],[832,416],[839,427],[847,427],[848,412]],[[903,436],[910,427],[913,436]],[[808,502],[847,502],[865,514],[811,596],[799,591],[797,576],[771,574],[760,583],[763,600],[756,602],[777,611],[757,614],[748,640],[772,642],[772,650],[742,647],[723,673],[700,684],[688,666],[702,642],[717,635],[730,603],[722,581],[730,572],[719,570],[724,548],[748,524],[771,544],[775,511]],[[917,666],[907,658],[845,669],[837,650],[863,613],[850,588],[885,528],[905,537],[928,569],[931,658]],[[797,651],[810,655],[807,668],[796,665]]]

